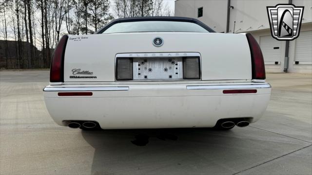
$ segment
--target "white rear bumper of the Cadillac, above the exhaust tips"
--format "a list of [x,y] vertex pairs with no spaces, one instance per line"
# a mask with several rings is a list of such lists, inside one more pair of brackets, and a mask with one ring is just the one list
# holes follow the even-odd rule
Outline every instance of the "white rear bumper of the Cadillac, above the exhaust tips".
[[[241,117],[253,117],[251,122],[255,122],[271,94],[267,83],[84,86],[89,91],[95,89],[90,97],[59,97],[60,88],[77,91],[82,87],[45,88],[45,103],[56,123],[97,121],[103,129],[213,127],[219,119]],[[236,88],[257,89],[257,93],[222,93]]]

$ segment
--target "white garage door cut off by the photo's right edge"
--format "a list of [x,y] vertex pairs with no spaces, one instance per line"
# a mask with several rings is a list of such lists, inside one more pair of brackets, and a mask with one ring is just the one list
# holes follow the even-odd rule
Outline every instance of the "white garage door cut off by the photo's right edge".
[[312,31],[300,32],[296,39],[295,61],[312,61]]

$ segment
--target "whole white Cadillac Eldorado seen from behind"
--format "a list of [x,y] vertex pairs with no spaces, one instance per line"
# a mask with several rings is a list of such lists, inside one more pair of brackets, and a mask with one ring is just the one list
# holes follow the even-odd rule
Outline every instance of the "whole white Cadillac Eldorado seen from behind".
[[193,18],[122,18],[95,35],[64,35],[43,91],[62,126],[231,129],[265,112],[265,78],[251,34],[215,33]]

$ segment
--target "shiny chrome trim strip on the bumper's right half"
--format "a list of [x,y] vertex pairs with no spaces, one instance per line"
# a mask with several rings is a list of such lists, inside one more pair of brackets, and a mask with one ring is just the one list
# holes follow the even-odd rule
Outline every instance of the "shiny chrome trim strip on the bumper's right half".
[[246,88],[271,88],[270,84],[260,85],[200,85],[200,86],[186,86],[188,90],[198,89],[246,89]]

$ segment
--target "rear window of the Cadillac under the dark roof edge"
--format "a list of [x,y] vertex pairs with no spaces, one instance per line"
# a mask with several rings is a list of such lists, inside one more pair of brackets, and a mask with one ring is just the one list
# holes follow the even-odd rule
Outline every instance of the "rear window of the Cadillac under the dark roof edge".
[[102,34],[127,32],[201,32],[209,33],[206,29],[192,22],[181,21],[134,21],[121,22],[112,25]]

